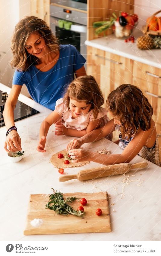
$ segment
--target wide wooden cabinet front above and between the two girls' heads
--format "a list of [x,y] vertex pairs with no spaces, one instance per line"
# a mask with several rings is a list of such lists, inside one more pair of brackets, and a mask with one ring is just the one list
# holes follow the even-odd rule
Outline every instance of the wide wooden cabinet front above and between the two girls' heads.
[[105,102],[119,85],[132,83],[132,67],[129,58],[87,46],[87,74],[95,77]]

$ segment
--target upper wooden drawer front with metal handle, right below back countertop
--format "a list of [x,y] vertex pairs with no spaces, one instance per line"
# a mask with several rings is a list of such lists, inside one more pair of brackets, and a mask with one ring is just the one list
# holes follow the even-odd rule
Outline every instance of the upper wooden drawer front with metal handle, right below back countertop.
[[134,61],[133,76],[161,85],[161,69],[141,62]]

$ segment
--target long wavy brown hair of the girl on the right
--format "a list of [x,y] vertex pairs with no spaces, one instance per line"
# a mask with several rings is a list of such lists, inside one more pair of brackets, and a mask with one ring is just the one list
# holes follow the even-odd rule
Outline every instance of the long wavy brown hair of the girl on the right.
[[134,136],[139,129],[147,131],[151,127],[153,108],[137,86],[120,85],[109,94],[106,105],[108,111],[120,120],[123,139],[126,135],[128,139]]

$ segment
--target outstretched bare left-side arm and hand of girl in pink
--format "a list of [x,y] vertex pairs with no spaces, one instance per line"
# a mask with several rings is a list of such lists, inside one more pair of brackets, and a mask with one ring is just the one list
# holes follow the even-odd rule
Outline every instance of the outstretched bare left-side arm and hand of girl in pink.
[[48,134],[49,128],[52,124],[58,121],[58,119],[61,118],[61,115],[58,114],[56,110],[54,110],[50,115],[44,119],[40,126],[40,131],[39,131],[39,143],[37,146],[37,151],[39,152],[46,152],[44,150],[45,144],[46,144],[46,136]]

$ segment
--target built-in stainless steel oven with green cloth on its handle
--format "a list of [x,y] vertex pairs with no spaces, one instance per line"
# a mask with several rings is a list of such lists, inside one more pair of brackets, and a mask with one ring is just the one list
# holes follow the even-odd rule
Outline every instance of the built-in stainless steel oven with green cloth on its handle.
[[[51,30],[60,39],[61,44],[74,45],[86,58],[84,42],[87,38],[87,4],[77,1],[59,2],[58,0],[55,1],[56,4],[54,1],[52,3],[50,5]],[[62,27],[63,22],[69,24],[67,29]]]

